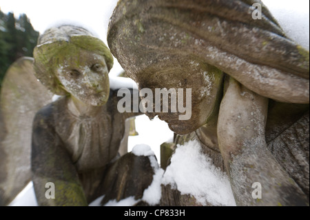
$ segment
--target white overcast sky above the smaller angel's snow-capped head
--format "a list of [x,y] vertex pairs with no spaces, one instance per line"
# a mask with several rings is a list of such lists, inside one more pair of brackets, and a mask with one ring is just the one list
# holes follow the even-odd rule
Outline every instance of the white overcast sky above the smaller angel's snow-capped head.
[[109,19],[117,0],[1,0],[3,12],[25,13],[40,33],[55,23],[80,23],[106,41]]

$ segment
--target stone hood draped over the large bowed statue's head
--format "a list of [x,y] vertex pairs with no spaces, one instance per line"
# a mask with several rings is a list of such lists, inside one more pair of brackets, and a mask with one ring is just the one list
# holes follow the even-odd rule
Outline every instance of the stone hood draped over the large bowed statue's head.
[[254,2],[119,1],[107,41],[136,81],[202,59],[264,97],[309,103],[309,51],[287,39],[266,8],[252,19]]

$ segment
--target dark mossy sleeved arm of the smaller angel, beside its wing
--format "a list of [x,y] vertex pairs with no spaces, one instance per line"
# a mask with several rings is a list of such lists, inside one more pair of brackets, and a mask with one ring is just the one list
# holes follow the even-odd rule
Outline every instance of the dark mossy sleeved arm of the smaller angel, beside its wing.
[[40,110],[33,123],[31,165],[38,204],[87,206],[76,169],[54,130],[51,110],[50,106]]

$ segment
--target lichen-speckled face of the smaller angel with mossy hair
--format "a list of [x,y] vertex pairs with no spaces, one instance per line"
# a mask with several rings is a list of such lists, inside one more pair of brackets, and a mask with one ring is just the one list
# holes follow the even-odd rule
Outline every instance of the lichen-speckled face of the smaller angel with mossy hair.
[[87,50],[68,54],[56,67],[56,77],[72,96],[91,106],[102,106],[110,94],[107,64],[103,56]]

